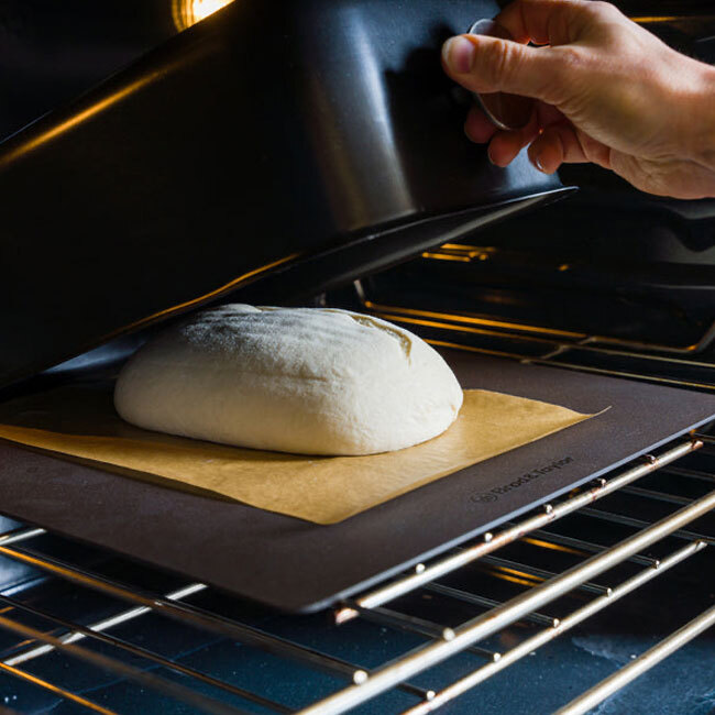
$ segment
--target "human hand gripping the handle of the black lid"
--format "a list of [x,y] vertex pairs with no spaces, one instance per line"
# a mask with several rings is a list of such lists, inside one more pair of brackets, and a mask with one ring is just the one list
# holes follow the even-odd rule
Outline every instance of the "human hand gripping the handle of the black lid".
[[514,42],[459,35],[442,51],[446,72],[466,89],[538,100],[519,131],[470,111],[466,134],[488,142],[494,164],[506,166],[529,145],[547,174],[593,162],[650,194],[715,197],[715,67],[606,2],[516,0],[495,20]]

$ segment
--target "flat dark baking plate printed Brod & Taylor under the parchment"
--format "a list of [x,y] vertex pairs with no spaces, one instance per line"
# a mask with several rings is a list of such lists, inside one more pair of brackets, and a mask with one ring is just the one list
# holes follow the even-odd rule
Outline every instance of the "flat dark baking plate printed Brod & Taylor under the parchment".
[[715,418],[713,395],[473,353],[444,355],[468,388],[583,413],[610,409],[333,526],[127,479],[8,442],[0,444],[0,510],[280,609],[309,612]]

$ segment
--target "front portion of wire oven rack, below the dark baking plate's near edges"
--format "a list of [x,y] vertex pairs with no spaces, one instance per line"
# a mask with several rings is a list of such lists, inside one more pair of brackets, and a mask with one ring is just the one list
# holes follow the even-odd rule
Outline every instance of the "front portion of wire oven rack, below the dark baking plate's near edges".
[[[188,712],[342,713],[391,692],[400,695],[396,708],[386,710],[381,705],[380,710],[365,712],[433,712],[645,584],[667,579],[678,564],[702,558],[703,551],[712,553],[707,547],[715,544],[715,534],[701,534],[691,524],[715,508],[715,490],[697,498],[685,498],[634,484],[647,475],[671,470],[678,480],[696,484],[701,491],[710,488],[715,485],[714,474],[672,464],[696,451],[712,453],[715,459],[714,443],[715,439],[708,435],[681,438],[657,455],[640,459],[624,471],[600,479],[517,522],[483,534],[465,547],[453,549],[447,557],[418,564],[410,573],[342,604],[334,612],[332,623],[321,626],[326,631],[344,632],[343,639],[350,639],[360,632],[355,630],[356,626],[364,629],[372,625],[380,627],[381,634],[388,632],[395,637],[408,634],[411,638],[411,648],[371,667],[288,638],[280,629],[257,627],[250,618],[235,615],[243,608],[250,610],[243,602],[231,602],[231,615],[227,615],[224,609],[205,607],[197,601],[212,592],[205,584],[177,583],[170,591],[160,593],[131,581],[108,578],[100,570],[66,557],[47,553],[40,543],[47,538],[43,529],[15,528],[0,536],[0,557],[30,568],[33,578],[42,576],[44,583],[68,582],[76,591],[108,596],[112,607],[100,618],[86,620],[63,614],[62,604],[57,602],[50,606],[37,605],[32,598],[24,597],[21,588],[2,593],[0,630],[19,638],[0,651],[0,679],[2,674],[7,676],[2,688],[7,690],[8,679],[14,679],[65,698],[79,708],[77,712],[122,712],[92,700],[88,694],[73,692],[63,682],[38,674],[36,667],[43,659],[62,657],[68,662],[81,662],[85,667],[108,671],[118,679],[184,703],[190,708]],[[672,510],[660,519],[647,521],[597,505],[601,499],[615,494],[627,494],[638,503],[667,505]],[[647,512],[639,509],[642,510]],[[606,546],[553,530],[562,519],[565,522],[574,518],[619,524],[630,534]],[[530,543],[537,550],[557,550],[575,556],[578,561],[564,571],[551,572],[527,559],[495,556],[503,553],[508,544],[519,542]],[[658,544],[662,553],[650,556],[650,548]],[[484,595],[480,587],[444,583],[450,574],[464,573],[475,565],[480,566],[480,578],[486,580],[477,581],[477,586],[506,580],[525,587],[510,598],[499,601]],[[594,583],[594,579],[617,565],[629,569],[626,578],[613,582],[608,579],[607,585]],[[459,624],[443,624],[411,613],[410,607],[405,606],[405,600],[419,594],[459,603],[469,612],[468,617]],[[557,610],[552,609],[562,608],[564,597],[570,606],[575,598],[578,607],[554,615]],[[128,625],[141,626],[142,622],[155,617],[180,631],[198,629],[207,637],[242,644],[242,648],[279,659],[286,669],[295,663],[308,669],[312,676],[328,673],[331,685],[328,692],[321,693],[322,696],[314,697],[315,702],[290,702],[289,693],[284,693],[287,697],[278,698],[245,684],[237,684],[231,679],[204,672],[166,656],[155,645],[147,646],[141,639],[122,635]],[[528,625],[527,637],[520,637],[512,648],[497,650],[491,645],[495,635],[515,626],[522,629],[524,625]],[[559,712],[586,712],[712,625],[715,625],[715,607],[694,616],[683,614],[682,628]],[[416,647],[415,638],[420,640]],[[460,654],[468,654],[470,659],[469,667],[463,668],[460,676],[431,685],[429,676],[433,671],[429,669]],[[318,690],[326,691],[326,688]],[[2,690],[0,707],[3,703],[1,693]]]

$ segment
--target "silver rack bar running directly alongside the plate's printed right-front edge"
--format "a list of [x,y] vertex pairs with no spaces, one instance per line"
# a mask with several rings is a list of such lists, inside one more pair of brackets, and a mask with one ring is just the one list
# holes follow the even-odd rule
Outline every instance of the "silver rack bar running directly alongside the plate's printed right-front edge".
[[[597,486],[584,491],[578,496],[570,497],[558,504],[556,507],[548,505],[541,514],[532,516],[510,528],[504,529],[496,535],[486,532],[483,536],[483,541],[468,549],[463,549],[444,559],[435,561],[429,566],[418,564],[414,573],[393,581],[392,583],[355,598],[354,601],[361,608],[382,606],[394,598],[403,596],[410,591],[429,583],[430,581],[435,581],[440,576],[451,573],[455,569],[460,569],[476,559],[481,559],[482,557],[501,549],[507,543],[516,541],[535,529],[539,529],[551,521],[561,519],[576,509],[582,509],[587,504],[592,504],[593,502],[623,488],[631,482],[641,479],[646,474],[650,474],[666,464],[670,464],[671,462],[679,460],[681,457],[698,450],[702,446],[703,442],[700,440],[689,440],[678,444],[659,457],[647,459],[642,464],[634,466],[612,480],[600,480]],[[350,606],[345,606],[336,613],[336,623],[345,623],[351,618],[354,618],[356,615],[358,610]]]

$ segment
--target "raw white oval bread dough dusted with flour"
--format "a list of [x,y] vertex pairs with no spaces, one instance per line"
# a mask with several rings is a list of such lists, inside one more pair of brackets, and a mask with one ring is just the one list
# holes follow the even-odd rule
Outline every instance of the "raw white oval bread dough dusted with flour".
[[140,349],[114,405],[139,427],[212,442],[373,454],[443,432],[462,391],[432,348],[385,320],[227,305]]

